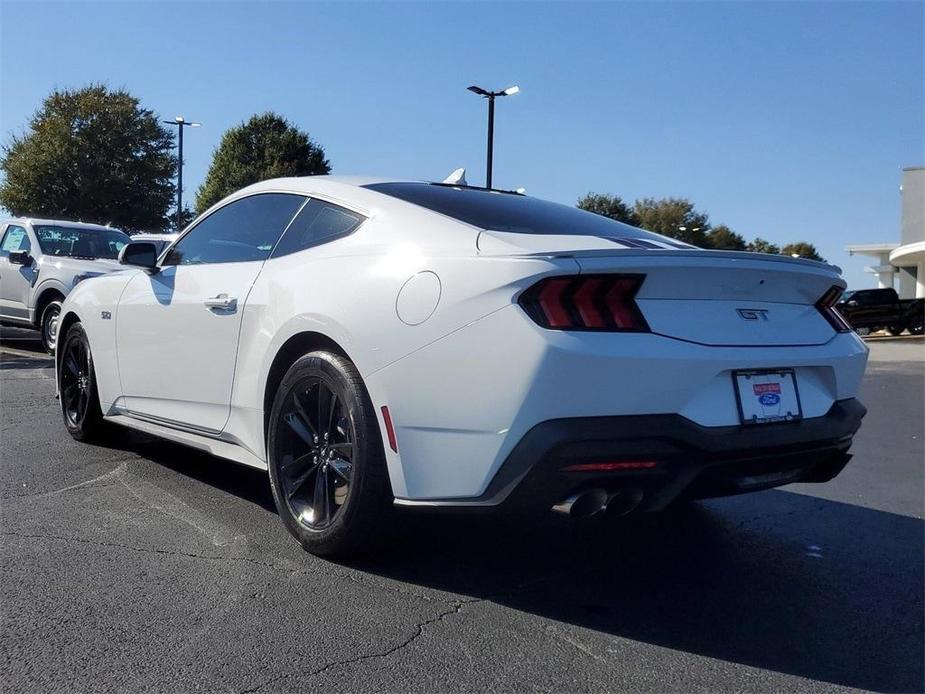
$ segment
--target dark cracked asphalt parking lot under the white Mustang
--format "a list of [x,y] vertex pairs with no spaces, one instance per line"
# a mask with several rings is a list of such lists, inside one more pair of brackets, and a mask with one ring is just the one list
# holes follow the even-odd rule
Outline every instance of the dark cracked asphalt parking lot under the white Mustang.
[[3,691],[923,689],[921,339],[872,340],[855,459],[618,528],[406,518],[351,564],[263,474],[70,439],[35,340],[0,339]]

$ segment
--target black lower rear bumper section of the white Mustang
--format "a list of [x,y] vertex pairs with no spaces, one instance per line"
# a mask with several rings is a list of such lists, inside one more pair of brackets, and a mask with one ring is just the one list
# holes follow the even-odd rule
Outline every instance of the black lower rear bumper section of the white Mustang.
[[[546,421],[514,447],[479,497],[411,501],[399,506],[458,511],[548,509],[586,489],[638,489],[640,510],[674,501],[727,496],[791,482],[827,482],[850,460],[866,408],[839,400],[821,417],[753,426],[704,427],[680,415],[581,417]],[[613,461],[646,469],[566,471]]]

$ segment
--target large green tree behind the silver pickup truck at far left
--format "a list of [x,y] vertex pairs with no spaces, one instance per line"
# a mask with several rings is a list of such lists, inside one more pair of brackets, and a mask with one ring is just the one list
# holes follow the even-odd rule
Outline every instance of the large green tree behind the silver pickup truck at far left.
[[3,147],[0,205],[16,215],[163,229],[174,199],[173,133],[123,90],[55,90]]

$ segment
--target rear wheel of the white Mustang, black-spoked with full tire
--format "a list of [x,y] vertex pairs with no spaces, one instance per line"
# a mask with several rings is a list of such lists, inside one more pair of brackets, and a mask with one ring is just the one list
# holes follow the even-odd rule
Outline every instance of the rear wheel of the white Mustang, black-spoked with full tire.
[[349,360],[312,352],[289,367],[267,452],[276,508],[304,549],[346,555],[379,537],[392,493],[375,410]]

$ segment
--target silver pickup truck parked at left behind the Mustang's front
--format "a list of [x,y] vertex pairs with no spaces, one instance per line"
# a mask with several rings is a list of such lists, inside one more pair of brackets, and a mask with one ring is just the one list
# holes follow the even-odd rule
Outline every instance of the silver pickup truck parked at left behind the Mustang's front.
[[0,322],[41,331],[54,351],[61,302],[81,280],[124,269],[127,234],[54,219],[0,222]]

